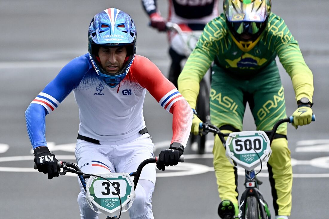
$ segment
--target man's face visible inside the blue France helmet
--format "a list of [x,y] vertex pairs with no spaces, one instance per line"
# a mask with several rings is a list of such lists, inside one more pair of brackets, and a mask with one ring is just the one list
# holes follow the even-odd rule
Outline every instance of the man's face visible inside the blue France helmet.
[[100,47],[98,56],[102,68],[108,73],[119,72],[127,56],[126,47]]

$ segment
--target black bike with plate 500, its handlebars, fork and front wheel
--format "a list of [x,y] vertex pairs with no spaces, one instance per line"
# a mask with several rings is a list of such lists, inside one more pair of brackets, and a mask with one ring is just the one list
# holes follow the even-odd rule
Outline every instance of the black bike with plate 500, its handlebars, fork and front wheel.
[[[315,115],[312,115],[312,121],[315,121]],[[272,131],[269,133],[269,145],[271,145],[271,143],[273,141],[274,134],[276,133],[277,128],[279,127],[280,124],[282,124],[284,122],[289,122],[289,123],[293,122],[293,117],[291,116],[289,118],[279,120],[274,124]],[[224,137],[227,137],[229,135],[220,132],[218,127],[216,127],[213,124],[209,124],[209,123],[200,124],[200,129],[203,130],[202,131],[203,134],[207,134],[209,132],[217,134],[219,139],[223,143],[224,148],[226,149],[226,140]],[[255,152],[256,152],[256,150],[255,150]],[[258,153],[257,153],[257,155],[258,155]],[[259,157],[259,159],[261,159],[259,155],[258,155],[258,157]],[[262,165],[262,161],[260,162],[260,164]],[[234,165],[237,166],[236,163],[234,163]],[[249,214],[248,208],[250,206],[257,208],[257,209],[249,210],[249,211],[257,212],[257,214],[254,214],[255,217],[260,218],[260,219],[270,219],[271,218],[271,214],[268,209],[268,205],[267,205],[262,193],[259,190],[259,185],[261,185],[262,182],[257,179],[257,177],[256,177],[257,174],[255,173],[254,169],[251,169],[251,170],[245,169],[245,190],[242,193],[241,198],[240,198],[240,218],[241,219],[246,218],[246,214]],[[251,197],[255,197],[257,203],[253,203],[253,205],[250,205],[250,203],[255,201],[255,199],[251,198]],[[248,200],[249,198],[250,198],[250,200]],[[248,206],[248,202],[249,202],[250,206]],[[249,218],[249,217],[250,216],[248,216],[248,219],[253,219],[253,218]]]

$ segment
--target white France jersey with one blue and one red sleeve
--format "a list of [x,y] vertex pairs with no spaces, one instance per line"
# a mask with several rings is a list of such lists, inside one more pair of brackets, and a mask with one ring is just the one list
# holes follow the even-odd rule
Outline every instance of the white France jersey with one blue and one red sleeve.
[[[33,148],[46,145],[44,116],[55,110],[71,91],[79,106],[80,135],[102,142],[136,136],[145,128],[143,101],[146,90],[173,114],[171,142],[185,146],[192,110],[150,60],[136,55],[126,77],[111,88],[97,75],[89,55],[85,54],[70,61],[27,109],[27,129]],[[40,109],[40,105],[44,108]],[[40,116],[42,112],[43,117]]]

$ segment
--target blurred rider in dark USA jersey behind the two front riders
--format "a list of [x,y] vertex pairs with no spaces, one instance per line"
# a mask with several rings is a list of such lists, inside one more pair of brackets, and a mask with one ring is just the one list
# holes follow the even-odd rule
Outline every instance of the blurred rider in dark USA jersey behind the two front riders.
[[[205,25],[218,16],[218,0],[168,0],[168,17],[161,16],[156,0],[142,0],[150,17],[150,25],[160,32],[166,31],[166,22],[178,24],[182,31],[202,31]],[[178,34],[168,32],[171,64],[168,79],[177,87],[181,61],[187,58],[184,43]]]

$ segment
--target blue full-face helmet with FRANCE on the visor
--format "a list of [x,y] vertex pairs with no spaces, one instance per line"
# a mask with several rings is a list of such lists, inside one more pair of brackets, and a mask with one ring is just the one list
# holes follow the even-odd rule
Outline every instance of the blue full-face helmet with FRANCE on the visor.
[[[99,77],[115,87],[129,72],[136,54],[136,27],[129,14],[119,9],[109,8],[94,16],[88,31],[88,52],[92,65]],[[123,68],[117,73],[106,72],[99,61],[98,50],[104,47],[126,46],[127,58]]]

